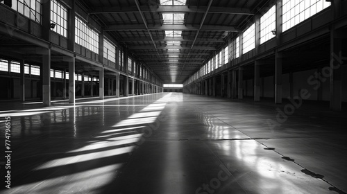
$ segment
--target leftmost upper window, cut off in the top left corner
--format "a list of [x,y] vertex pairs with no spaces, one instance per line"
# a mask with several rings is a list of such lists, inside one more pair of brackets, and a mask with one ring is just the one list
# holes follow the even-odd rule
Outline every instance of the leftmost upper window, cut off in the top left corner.
[[42,0],[12,0],[12,9],[40,24],[42,21],[41,8]]

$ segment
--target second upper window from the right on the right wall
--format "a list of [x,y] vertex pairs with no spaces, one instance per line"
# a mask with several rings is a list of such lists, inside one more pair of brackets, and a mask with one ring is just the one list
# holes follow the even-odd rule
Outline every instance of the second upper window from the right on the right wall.
[[260,44],[275,37],[271,32],[272,30],[276,30],[276,6],[272,6],[260,17]]

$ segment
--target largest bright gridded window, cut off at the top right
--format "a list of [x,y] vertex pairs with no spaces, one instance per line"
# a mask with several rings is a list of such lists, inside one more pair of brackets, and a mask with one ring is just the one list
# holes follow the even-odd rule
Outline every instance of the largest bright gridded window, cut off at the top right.
[[301,21],[328,8],[330,2],[325,0],[283,0],[282,31],[299,24]]

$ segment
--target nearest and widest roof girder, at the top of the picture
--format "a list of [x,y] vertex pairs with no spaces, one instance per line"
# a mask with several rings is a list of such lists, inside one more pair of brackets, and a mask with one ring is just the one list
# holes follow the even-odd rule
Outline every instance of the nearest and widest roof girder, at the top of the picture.
[[[140,6],[142,12],[187,12],[187,13],[205,13],[208,10],[207,6]],[[139,12],[137,7],[102,7],[95,8],[94,11],[91,11],[90,14],[106,14],[106,13],[126,13],[126,12]],[[237,15],[254,15],[251,10],[246,8],[219,8],[211,7],[209,10],[210,13],[219,13],[219,14],[237,14]]]

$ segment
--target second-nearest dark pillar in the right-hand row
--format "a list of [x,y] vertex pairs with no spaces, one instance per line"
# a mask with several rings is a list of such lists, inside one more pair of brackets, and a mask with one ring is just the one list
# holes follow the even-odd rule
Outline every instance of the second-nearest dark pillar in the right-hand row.
[[275,62],[275,103],[282,103],[282,53],[277,51]]

